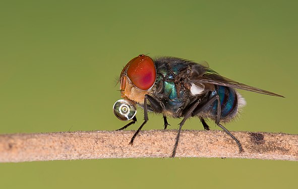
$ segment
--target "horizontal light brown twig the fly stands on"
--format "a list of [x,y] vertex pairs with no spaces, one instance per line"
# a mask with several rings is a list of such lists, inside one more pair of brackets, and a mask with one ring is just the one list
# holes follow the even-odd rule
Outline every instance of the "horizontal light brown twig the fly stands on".
[[[0,162],[169,157],[176,130],[93,131],[0,135]],[[244,152],[222,131],[182,131],[176,157],[298,160],[298,135],[232,132]]]

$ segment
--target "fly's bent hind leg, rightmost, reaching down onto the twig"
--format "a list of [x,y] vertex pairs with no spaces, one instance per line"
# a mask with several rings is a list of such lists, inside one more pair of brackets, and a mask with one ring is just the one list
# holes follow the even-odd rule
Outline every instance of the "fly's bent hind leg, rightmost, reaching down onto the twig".
[[[213,102],[217,100],[217,113],[216,113],[216,120],[215,123],[218,125],[218,127],[220,127],[226,134],[228,134],[238,145],[239,148],[239,153],[241,153],[243,151],[243,148],[240,144],[240,142],[227,130],[225,129],[225,127],[223,127],[219,121],[220,121],[220,114],[221,114],[221,106],[220,106],[220,99],[218,95],[213,96],[212,98],[210,98],[209,101],[207,101],[204,105],[200,106],[198,109],[196,109],[193,112],[193,115],[198,114],[200,111],[204,110],[205,108],[208,108],[209,106],[211,106],[213,104]],[[204,124],[203,124],[204,125]],[[204,127],[205,128],[205,127]]]

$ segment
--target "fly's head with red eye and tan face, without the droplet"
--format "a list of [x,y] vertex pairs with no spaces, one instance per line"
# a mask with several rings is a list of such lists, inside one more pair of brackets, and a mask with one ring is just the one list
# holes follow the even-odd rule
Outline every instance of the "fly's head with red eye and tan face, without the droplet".
[[156,69],[153,60],[139,55],[128,62],[120,75],[121,97],[143,104],[144,97],[153,87]]

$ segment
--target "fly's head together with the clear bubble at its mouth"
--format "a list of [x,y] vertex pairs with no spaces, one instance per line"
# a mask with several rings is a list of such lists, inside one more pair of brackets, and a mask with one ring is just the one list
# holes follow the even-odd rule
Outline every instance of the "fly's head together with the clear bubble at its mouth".
[[137,113],[136,103],[144,104],[145,95],[156,81],[156,69],[153,60],[139,55],[128,62],[120,75],[120,91],[123,99],[113,106],[115,116],[121,120],[133,119]]

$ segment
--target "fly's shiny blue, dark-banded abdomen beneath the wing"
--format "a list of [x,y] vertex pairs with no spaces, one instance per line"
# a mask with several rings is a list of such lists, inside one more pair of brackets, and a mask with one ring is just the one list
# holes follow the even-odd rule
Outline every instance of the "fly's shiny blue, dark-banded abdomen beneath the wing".
[[[210,97],[218,94],[220,99],[221,107],[221,119],[230,119],[234,117],[238,111],[239,97],[243,99],[240,94],[238,94],[234,89],[224,86],[215,86],[215,90],[211,93]],[[212,116],[217,115],[217,101],[213,103],[213,106],[210,110]]]

